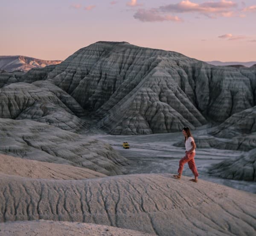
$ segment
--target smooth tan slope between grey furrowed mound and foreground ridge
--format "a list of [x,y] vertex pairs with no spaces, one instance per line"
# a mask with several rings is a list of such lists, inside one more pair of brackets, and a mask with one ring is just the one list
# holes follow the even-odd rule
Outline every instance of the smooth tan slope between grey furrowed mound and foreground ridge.
[[106,175],[71,165],[38,162],[0,154],[0,173],[36,179],[90,179]]

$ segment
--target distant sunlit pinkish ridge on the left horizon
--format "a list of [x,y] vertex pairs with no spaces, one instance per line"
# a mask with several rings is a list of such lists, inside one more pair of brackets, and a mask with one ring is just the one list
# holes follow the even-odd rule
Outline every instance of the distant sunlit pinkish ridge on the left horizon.
[[61,60],[41,60],[26,56],[0,56],[0,70],[7,72],[29,71],[32,68],[43,68],[47,65],[57,65]]

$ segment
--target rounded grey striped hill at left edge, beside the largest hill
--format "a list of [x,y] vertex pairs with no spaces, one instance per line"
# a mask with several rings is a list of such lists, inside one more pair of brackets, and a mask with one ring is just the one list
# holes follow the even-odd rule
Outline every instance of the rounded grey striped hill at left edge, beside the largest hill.
[[[38,85],[38,86],[36,86]],[[86,124],[81,106],[55,85],[18,82],[0,88],[0,118],[33,119],[64,130],[78,131]]]

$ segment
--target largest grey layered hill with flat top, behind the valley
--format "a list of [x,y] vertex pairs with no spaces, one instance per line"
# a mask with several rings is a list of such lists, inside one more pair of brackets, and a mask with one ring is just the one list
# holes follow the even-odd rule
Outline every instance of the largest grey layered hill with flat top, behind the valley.
[[81,48],[47,80],[99,117],[111,134],[151,134],[224,122],[253,107],[255,69],[213,66],[129,43]]

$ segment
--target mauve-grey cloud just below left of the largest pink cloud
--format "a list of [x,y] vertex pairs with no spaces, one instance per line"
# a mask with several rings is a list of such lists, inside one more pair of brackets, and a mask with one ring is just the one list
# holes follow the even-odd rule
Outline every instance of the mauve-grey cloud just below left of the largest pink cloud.
[[183,21],[177,16],[165,15],[162,16],[157,9],[143,10],[139,9],[135,14],[134,18],[143,22],[154,22],[154,21]]

